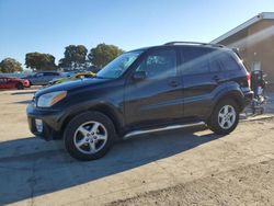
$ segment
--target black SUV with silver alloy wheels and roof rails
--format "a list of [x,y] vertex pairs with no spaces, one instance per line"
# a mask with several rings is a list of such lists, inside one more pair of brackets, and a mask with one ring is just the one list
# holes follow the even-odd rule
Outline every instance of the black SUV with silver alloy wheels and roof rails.
[[173,42],[124,53],[93,79],[37,91],[27,116],[33,134],[64,138],[73,158],[93,160],[136,134],[201,122],[229,134],[252,98],[235,50]]

